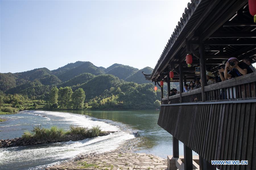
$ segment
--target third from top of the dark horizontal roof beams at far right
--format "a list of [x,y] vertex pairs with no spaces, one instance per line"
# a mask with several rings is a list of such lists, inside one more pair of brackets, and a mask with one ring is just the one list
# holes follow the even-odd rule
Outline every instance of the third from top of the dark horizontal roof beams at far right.
[[236,40],[236,41],[206,40],[204,41],[204,44],[207,44],[207,45],[256,45],[256,40]]

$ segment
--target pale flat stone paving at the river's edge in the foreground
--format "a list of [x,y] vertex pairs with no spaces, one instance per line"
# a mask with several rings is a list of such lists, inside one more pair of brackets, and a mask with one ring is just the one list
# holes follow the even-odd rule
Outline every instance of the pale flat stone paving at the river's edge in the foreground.
[[77,159],[54,165],[46,170],[166,170],[167,160],[145,153],[105,152],[80,155]]

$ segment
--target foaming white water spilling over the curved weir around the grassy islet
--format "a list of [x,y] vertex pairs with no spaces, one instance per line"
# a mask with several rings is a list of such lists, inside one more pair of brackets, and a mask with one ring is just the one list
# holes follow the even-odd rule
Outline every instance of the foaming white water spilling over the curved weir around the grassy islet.
[[[24,111],[24,114],[42,114],[48,118],[44,123],[55,125],[61,124],[92,127],[100,126],[103,131],[118,131],[107,136],[84,139],[82,141],[69,141],[35,146],[18,146],[3,148],[0,151],[0,169],[41,169],[49,164],[59,163],[60,161],[74,158],[80,153],[102,153],[114,150],[125,140],[134,138],[129,131],[122,131],[123,128],[108,124],[104,121],[93,120],[84,115],[51,112],[51,111]],[[58,119],[59,118],[59,119]],[[40,124],[40,122],[38,122]]]

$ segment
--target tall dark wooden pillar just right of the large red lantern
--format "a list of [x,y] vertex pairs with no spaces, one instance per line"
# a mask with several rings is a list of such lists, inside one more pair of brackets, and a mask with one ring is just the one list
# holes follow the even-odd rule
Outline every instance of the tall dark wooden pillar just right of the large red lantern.
[[205,46],[201,40],[199,41],[199,53],[200,53],[200,75],[201,75],[202,101],[205,101],[205,86],[207,85],[206,68],[205,68]]

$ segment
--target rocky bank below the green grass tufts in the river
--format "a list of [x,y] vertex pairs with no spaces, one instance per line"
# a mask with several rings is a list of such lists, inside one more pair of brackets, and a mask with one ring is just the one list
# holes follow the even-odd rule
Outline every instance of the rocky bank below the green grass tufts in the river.
[[[110,133],[115,133],[115,132],[117,131],[102,131],[99,136],[106,136],[106,135],[109,135]],[[44,143],[65,142],[65,141],[80,141],[86,138],[87,137],[84,137],[81,134],[70,134],[70,135],[65,135],[61,139],[35,139],[35,138],[26,139],[23,137],[6,139],[6,140],[1,139],[0,148],[11,147],[11,146],[38,145],[38,144],[44,144]]]

